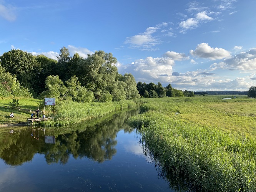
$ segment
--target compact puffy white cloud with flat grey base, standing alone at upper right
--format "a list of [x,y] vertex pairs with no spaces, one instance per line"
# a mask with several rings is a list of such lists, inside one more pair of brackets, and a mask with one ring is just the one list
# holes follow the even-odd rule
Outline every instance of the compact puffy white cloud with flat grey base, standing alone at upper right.
[[231,57],[229,51],[223,48],[212,48],[208,43],[197,45],[196,50],[190,50],[190,54],[200,58],[208,58],[210,60],[224,59]]

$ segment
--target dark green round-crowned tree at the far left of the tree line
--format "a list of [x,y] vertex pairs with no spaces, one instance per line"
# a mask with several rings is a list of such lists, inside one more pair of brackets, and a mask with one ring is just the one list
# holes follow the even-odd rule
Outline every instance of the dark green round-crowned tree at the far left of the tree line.
[[41,71],[35,58],[31,53],[15,49],[0,56],[3,68],[10,74],[16,75],[20,84],[33,94],[38,86],[38,71]]

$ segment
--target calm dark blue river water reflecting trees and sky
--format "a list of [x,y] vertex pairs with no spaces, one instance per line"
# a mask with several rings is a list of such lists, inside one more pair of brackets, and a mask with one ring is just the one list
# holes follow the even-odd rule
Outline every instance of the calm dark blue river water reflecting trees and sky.
[[171,191],[125,123],[135,114],[1,133],[0,191]]

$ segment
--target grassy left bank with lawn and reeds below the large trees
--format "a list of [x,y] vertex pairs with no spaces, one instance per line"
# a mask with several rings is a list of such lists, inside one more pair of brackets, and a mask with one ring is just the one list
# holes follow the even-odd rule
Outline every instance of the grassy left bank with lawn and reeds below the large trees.
[[[37,110],[39,107],[43,111],[42,100],[34,98],[18,98],[19,107],[21,109],[31,109],[32,111]],[[18,124],[27,122],[27,118],[30,118],[29,111],[18,111],[17,109],[11,109],[3,107],[10,106],[9,102],[11,98],[0,99],[0,125],[7,124]],[[41,107],[40,107],[41,106]],[[68,124],[76,124],[88,119],[101,117],[109,114],[113,111],[135,108],[137,104],[132,100],[125,100],[119,102],[110,103],[78,103],[73,101],[62,101],[55,106],[54,121],[42,122],[43,126],[63,126]],[[14,113],[14,118],[10,118],[10,113]],[[46,108],[46,115],[53,116],[53,107]],[[42,115],[41,115],[42,116]]]

